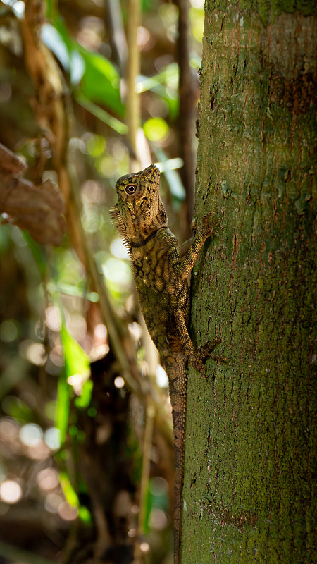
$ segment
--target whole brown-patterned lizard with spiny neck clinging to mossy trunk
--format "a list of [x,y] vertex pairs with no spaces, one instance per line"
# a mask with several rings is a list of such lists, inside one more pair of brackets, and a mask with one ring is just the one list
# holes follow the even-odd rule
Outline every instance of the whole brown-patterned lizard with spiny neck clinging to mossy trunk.
[[181,256],[178,239],[168,228],[168,218],[159,192],[160,171],[154,164],[144,171],[126,174],[116,182],[118,202],[111,212],[128,248],[139,303],[149,334],[156,345],[166,374],[173,417],[175,451],[174,564],[180,564],[180,525],[185,455],[187,398],[186,363],[206,374],[204,362],[213,355],[220,339],[194,350],[189,336],[189,287],[192,271],[206,238],[218,221],[204,216],[192,243]]

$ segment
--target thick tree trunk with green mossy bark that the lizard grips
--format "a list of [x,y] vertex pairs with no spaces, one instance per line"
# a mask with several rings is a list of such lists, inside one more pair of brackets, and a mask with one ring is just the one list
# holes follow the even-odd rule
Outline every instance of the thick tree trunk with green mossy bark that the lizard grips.
[[182,564],[317,561],[314,5],[205,5]]

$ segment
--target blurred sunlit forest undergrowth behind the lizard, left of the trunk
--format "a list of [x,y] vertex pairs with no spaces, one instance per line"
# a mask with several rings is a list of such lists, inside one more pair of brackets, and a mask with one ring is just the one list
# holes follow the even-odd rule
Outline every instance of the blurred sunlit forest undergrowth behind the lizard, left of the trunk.
[[166,375],[109,210],[151,159],[189,232],[204,2],[178,4],[143,0],[127,38],[128,0],[0,2],[1,563],[171,561]]

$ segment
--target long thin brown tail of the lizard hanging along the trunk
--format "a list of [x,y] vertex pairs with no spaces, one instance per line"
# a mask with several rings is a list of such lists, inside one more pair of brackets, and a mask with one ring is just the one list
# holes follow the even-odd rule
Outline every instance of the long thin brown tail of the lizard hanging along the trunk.
[[182,524],[182,486],[184,481],[185,427],[187,376],[185,373],[185,357],[175,355],[165,359],[168,375],[170,403],[172,405],[174,453],[175,453],[175,485],[174,485],[174,564],[180,564],[180,536]]

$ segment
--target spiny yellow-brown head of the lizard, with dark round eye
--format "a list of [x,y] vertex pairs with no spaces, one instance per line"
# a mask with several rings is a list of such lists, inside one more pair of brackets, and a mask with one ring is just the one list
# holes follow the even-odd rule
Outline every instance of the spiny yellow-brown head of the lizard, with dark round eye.
[[113,217],[128,242],[137,242],[156,229],[168,226],[159,185],[160,171],[154,164],[117,180],[118,202]]

